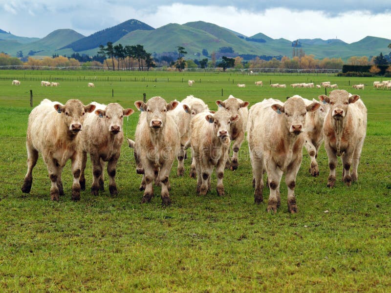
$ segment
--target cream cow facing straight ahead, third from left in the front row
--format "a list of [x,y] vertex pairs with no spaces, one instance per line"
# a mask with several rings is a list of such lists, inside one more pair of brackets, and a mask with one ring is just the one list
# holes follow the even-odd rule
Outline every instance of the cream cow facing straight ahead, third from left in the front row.
[[141,203],[151,201],[152,181],[155,180],[161,186],[163,205],[170,205],[169,175],[180,149],[180,135],[167,112],[174,110],[178,102],[167,103],[161,97],[153,97],[147,103],[136,101],[134,105],[142,111],[136,127],[134,149],[144,168],[140,189],[145,190]]

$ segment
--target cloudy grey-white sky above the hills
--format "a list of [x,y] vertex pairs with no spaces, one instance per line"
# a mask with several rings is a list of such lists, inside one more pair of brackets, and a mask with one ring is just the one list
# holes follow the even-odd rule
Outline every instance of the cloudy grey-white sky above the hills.
[[207,21],[290,41],[391,39],[391,0],[0,0],[0,29],[22,37],[43,38],[60,28],[88,36],[129,19],[154,28]]

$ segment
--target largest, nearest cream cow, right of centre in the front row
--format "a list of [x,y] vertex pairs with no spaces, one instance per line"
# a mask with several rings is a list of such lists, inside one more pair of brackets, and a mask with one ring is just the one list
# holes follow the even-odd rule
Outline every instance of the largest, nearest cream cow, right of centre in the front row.
[[308,111],[315,111],[319,106],[319,103],[306,106],[303,99],[293,97],[285,103],[263,100],[250,108],[247,140],[255,186],[254,201],[256,204],[263,201],[262,174],[265,169],[270,188],[267,211],[277,212],[281,204],[283,172],[286,173],[288,210],[291,213],[298,211],[294,189],[303,157],[305,117]]

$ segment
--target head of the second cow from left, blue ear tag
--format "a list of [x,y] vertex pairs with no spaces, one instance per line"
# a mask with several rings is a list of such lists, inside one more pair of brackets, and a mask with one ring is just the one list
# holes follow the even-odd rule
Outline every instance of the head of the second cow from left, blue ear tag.
[[118,132],[122,131],[124,116],[129,116],[133,114],[133,112],[133,109],[124,109],[117,103],[110,103],[106,106],[105,110],[98,109],[95,111],[95,114],[98,115],[101,119],[104,119],[104,123],[107,126],[106,129],[109,131],[109,133],[117,134]]

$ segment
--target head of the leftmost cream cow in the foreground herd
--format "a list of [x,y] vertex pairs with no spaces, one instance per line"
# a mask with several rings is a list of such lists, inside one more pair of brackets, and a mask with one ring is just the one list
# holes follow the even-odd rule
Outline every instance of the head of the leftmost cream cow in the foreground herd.
[[54,108],[63,115],[65,125],[68,130],[77,133],[82,130],[82,125],[85,119],[86,112],[91,113],[95,109],[95,105],[83,105],[79,100],[68,100],[65,105],[56,104]]

